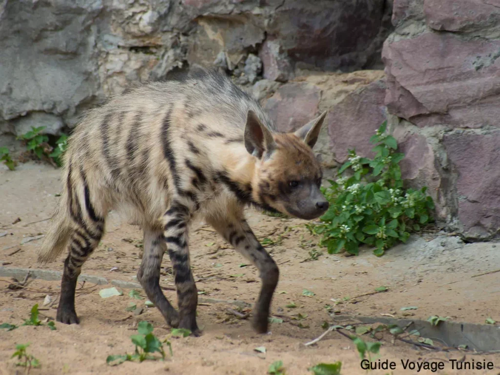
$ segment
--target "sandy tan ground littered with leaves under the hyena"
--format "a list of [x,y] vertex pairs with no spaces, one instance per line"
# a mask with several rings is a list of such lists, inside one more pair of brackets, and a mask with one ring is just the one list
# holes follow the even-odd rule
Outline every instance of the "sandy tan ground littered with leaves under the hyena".
[[[44,233],[48,221],[35,221],[50,217],[59,190],[59,171],[48,165],[29,162],[13,172],[0,167],[0,265],[62,271],[63,257],[43,266],[35,263],[40,239],[20,244],[26,237]],[[252,210],[248,211],[248,217],[260,239],[270,238],[275,242],[266,247],[281,271],[272,313],[288,317],[300,313],[306,315],[304,319],[285,318],[282,323],[272,323],[269,333],[259,335],[251,330],[249,320],[239,320],[227,313],[227,308],[236,308],[234,305],[203,304],[198,307],[202,336],[171,338],[173,356],[167,355],[163,362],[125,362],[110,367],[105,362],[107,355],[133,351],[129,336],[136,333],[137,321],[150,321],[159,338],[168,337],[170,330],[158,310],[144,307],[143,299],[133,300],[127,289],[123,289],[121,296],[103,299],[98,291],[111,285],[88,288],[90,285],[86,283],[76,297],[79,325],[57,322],[57,329],[53,331],[46,326],[0,330],[0,374],[22,373],[10,354],[16,343],[24,342],[30,342],[29,351],[41,362],[41,368],[31,370],[35,374],[132,374],[137,371],[265,374],[275,360],[283,361],[287,374],[311,373],[307,370],[311,365],[337,360],[342,361],[343,374],[361,374],[366,371],[361,369],[358,353],[348,338],[330,332],[315,345],[303,345],[324,331],[321,327],[324,321],[334,323],[335,313],[371,316],[388,313],[421,319],[440,315],[473,323],[484,323],[486,317],[500,320],[498,273],[475,276],[500,268],[500,243],[465,244],[455,236],[429,232],[412,237],[407,244],[394,247],[380,258],[369,249],[361,251],[359,256],[329,255],[316,246],[319,238],[309,234],[302,220],[269,217]],[[20,221],[13,223],[17,218]],[[244,259],[210,228],[200,224],[195,229],[190,249],[196,284],[203,293],[200,297],[253,303],[260,287],[256,270],[251,266],[240,267]],[[2,236],[2,233],[6,234]],[[82,273],[134,282],[140,264],[141,239],[138,227],[111,213],[107,233]],[[20,250],[9,255],[17,248]],[[309,259],[312,249],[322,251],[317,260]],[[163,266],[169,268],[167,257],[163,259]],[[171,273],[163,272],[161,284],[173,286]],[[382,285],[387,286],[388,291],[358,297]],[[29,283],[30,289],[18,291],[10,291],[6,286],[7,282],[0,282],[0,323],[22,323],[30,307],[34,303],[41,306],[47,294],[53,296],[55,303],[41,312],[55,317],[58,281],[33,280]],[[302,295],[303,289],[314,295]],[[175,303],[174,291],[167,290],[165,294]],[[144,307],[142,314],[136,316],[126,310],[132,301]],[[285,307],[291,302],[295,308]],[[418,308],[401,311],[403,306]],[[253,348],[257,346],[265,346],[266,353],[255,352]],[[448,359],[463,359],[463,353],[433,352],[400,341],[385,340],[379,357],[396,361],[394,374],[417,373],[404,370],[401,359],[445,361],[445,370],[437,373],[500,373],[500,355],[466,354],[465,360],[485,358],[492,361],[495,368],[457,371],[451,369]]]

